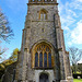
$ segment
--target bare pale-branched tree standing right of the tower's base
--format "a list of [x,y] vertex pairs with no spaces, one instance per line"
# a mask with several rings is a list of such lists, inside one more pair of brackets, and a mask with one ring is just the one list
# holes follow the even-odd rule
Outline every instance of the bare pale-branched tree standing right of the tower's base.
[[82,57],[82,50],[75,47],[69,47],[70,63],[72,65],[72,71],[77,73],[77,63]]

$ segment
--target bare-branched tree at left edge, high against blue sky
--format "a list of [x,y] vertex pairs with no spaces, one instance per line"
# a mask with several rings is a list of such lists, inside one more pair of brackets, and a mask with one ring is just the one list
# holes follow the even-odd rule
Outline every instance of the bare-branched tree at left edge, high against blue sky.
[[13,32],[9,25],[9,21],[0,9],[0,38],[3,40],[8,40],[11,36],[13,36]]

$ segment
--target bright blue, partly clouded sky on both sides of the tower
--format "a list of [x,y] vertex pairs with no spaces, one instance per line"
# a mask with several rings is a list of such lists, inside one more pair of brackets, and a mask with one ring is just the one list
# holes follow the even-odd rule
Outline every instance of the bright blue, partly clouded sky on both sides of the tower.
[[[0,0],[0,8],[8,16],[14,37],[10,44],[0,46],[9,48],[3,57],[9,58],[15,48],[21,48],[28,0]],[[61,27],[65,31],[66,48],[70,46],[82,49],[82,0],[58,0]]]

